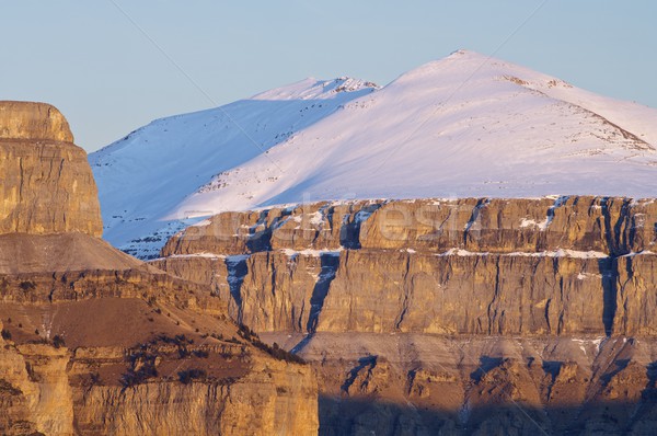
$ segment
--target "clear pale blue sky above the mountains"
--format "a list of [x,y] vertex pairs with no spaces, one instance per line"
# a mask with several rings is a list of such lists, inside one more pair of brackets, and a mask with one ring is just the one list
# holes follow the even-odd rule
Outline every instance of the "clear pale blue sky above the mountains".
[[89,151],[306,77],[385,84],[459,48],[657,107],[654,0],[0,4],[0,99],[55,104]]

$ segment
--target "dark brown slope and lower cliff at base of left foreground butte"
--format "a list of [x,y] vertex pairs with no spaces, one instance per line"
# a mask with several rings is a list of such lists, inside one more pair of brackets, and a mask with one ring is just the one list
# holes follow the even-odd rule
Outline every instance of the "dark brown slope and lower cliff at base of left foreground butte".
[[2,434],[316,434],[312,369],[189,300],[3,302],[0,318]]

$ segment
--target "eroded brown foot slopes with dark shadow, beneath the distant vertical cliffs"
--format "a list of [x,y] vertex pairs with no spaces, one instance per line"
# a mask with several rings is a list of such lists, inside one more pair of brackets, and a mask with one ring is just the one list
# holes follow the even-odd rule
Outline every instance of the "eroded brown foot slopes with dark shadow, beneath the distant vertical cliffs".
[[606,435],[654,425],[654,352],[622,336],[316,333],[299,354],[318,369],[320,434]]

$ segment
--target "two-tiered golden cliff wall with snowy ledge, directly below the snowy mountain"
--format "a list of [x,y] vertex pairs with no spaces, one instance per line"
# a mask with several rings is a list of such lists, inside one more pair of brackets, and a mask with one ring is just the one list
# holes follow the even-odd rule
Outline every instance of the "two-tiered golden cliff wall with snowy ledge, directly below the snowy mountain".
[[616,299],[653,283],[656,223],[629,198],[321,203],[220,214],[154,264],[262,332],[637,334]]

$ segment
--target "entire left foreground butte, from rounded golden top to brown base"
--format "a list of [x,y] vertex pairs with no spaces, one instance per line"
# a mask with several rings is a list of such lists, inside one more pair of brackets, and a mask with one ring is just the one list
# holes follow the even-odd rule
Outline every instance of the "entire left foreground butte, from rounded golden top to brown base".
[[312,368],[205,285],[100,240],[84,151],[45,104],[0,103],[0,433],[318,432]]

